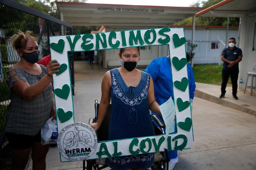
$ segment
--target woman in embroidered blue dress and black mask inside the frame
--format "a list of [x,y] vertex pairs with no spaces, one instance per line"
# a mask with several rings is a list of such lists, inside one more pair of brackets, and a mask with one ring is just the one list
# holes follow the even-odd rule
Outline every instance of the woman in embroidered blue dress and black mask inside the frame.
[[[123,66],[109,70],[104,75],[98,122],[90,125],[95,131],[99,129],[111,99],[108,140],[154,136],[149,109],[161,113],[155,101],[152,78],[148,73],[136,69],[140,48],[121,48],[118,55]],[[114,170],[147,169],[153,163],[154,153],[106,159],[106,164]]]

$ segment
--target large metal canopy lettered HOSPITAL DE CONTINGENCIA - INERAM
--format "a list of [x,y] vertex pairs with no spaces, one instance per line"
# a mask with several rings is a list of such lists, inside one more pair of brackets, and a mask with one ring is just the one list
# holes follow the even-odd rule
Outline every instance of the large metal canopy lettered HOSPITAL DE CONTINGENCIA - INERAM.
[[61,19],[73,26],[168,27],[203,10],[167,7],[57,2]]

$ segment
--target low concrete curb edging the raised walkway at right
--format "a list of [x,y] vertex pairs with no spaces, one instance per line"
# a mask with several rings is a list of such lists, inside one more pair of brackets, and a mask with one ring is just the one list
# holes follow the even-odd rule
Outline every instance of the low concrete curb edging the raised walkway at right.
[[222,106],[230,107],[230,108],[239,110],[241,112],[249,113],[251,115],[256,116],[256,111],[255,110],[252,110],[252,109],[250,109],[248,107],[244,107],[244,106],[238,105],[236,103],[232,103],[232,102],[224,100],[224,99],[220,99],[220,98],[218,98],[216,96],[212,96],[212,95],[207,94],[205,92],[202,92],[200,90],[196,90],[195,91],[195,97],[198,97],[198,98],[201,98],[201,99],[204,99],[204,100],[208,100],[208,101],[220,104]]

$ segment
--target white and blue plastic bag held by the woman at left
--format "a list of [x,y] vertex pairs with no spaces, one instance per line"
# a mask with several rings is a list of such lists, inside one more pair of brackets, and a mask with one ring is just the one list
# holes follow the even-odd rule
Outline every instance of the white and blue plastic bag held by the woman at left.
[[58,129],[56,119],[48,119],[41,129],[41,144],[57,144]]

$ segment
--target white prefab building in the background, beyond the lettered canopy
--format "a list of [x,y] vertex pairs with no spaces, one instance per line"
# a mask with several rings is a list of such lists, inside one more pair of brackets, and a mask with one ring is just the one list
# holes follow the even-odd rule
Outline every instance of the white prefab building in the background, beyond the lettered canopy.
[[[192,26],[184,27],[187,42],[192,41]],[[129,29],[101,27],[97,32],[121,31]],[[94,32],[95,33],[95,32]],[[220,54],[226,44],[226,27],[225,26],[196,26],[195,40],[197,44],[195,49],[194,64],[221,64]],[[238,26],[231,26],[228,30],[228,37],[234,37],[237,40]],[[140,66],[147,66],[154,58],[168,55],[167,46],[148,46],[141,49]],[[100,57],[105,68],[120,66],[118,49],[105,50],[104,57]],[[99,61],[98,60],[98,61]],[[99,63],[100,63],[99,61]]]

